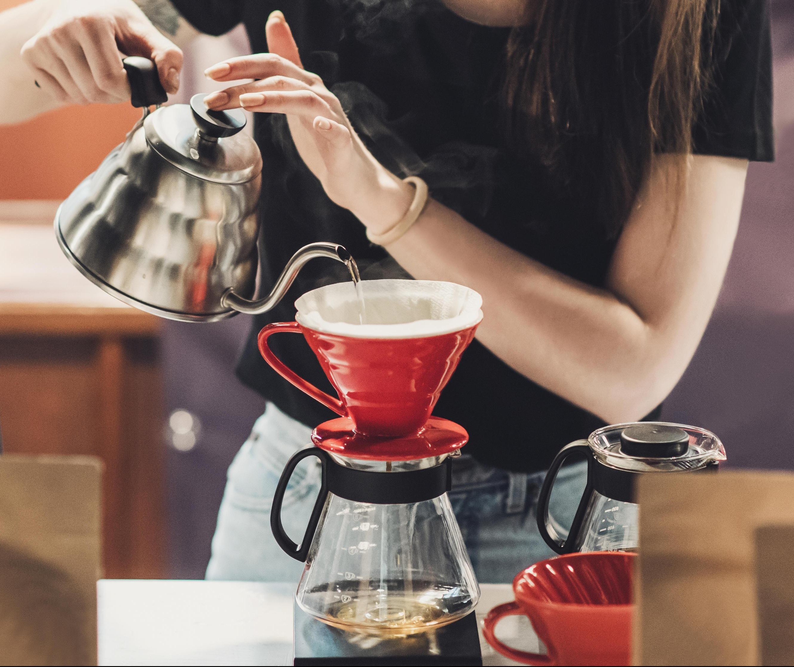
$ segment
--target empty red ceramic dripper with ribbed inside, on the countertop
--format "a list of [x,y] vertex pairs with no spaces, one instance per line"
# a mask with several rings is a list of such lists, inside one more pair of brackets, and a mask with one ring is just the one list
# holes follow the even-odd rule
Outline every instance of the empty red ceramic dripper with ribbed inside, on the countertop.
[[[630,665],[634,553],[569,553],[530,566],[513,580],[515,602],[483,621],[486,641],[525,665]],[[547,655],[514,649],[495,635],[499,620],[526,615]]]

